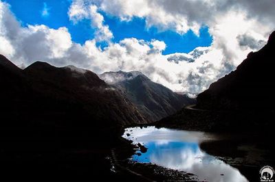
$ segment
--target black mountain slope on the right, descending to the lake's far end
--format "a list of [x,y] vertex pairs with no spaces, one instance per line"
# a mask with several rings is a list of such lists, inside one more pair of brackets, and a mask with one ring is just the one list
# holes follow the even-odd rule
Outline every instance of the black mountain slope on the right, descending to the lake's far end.
[[157,125],[205,131],[270,131],[274,129],[275,31],[261,50],[229,75],[197,96],[197,105],[184,108]]

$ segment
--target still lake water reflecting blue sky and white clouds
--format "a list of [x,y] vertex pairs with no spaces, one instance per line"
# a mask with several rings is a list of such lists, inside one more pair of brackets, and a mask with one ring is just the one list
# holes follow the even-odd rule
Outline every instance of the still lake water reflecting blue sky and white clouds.
[[201,151],[201,142],[215,140],[210,133],[133,127],[125,129],[122,137],[148,148],[146,153],[133,155],[133,161],[190,172],[202,181],[248,181],[236,168]]

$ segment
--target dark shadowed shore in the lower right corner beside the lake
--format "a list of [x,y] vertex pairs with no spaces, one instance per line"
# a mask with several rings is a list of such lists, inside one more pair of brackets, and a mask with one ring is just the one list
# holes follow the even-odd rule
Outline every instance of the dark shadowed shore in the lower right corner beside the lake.
[[259,171],[263,166],[275,166],[272,133],[222,135],[217,141],[201,143],[202,150],[237,168],[249,181],[259,181]]

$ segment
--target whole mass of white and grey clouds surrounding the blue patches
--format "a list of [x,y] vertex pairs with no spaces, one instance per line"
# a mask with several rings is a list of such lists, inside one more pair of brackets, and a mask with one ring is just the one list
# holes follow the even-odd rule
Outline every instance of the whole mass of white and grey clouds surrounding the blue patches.
[[[70,64],[96,73],[139,70],[174,91],[198,93],[233,70],[250,51],[259,49],[259,43],[266,42],[274,28],[274,3],[249,2],[75,0],[69,8],[70,20],[77,23],[87,18],[98,29],[96,38],[81,45],[72,41],[66,27],[21,27],[9,5],[0,1],[0,53],[25,66],[40,60],[55,66]],[[266,6],[270,7],[264,10]],[[166,44],[160,40],[125,38],[114,43],[101,11],[122,21],[131,21],[134,16],[145,18],[147,27],[155,26],[159,31],[173,29],[178,34],[192,29],[199,36],[199,27],[207,25],[213,42],[210,47],[170,55],[162,53]],[[109,43],[100,49],[96,43],[103,40]]]

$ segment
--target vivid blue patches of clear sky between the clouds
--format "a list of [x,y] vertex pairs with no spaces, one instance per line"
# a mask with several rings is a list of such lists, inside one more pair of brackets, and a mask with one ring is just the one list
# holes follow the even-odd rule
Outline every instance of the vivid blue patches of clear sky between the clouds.
[[[26,25],[47,25],[50,28],[58,29],[67,27],[74,42],[83,44],[86,40],[94,38],[96,29],[91,27],[89,20],[84,19],[74,24],[69,21],[67,12],[71,1],[18,1],[6,0],[11,5],[11,10]],[[188,53],[196,47],[208,47],[212,43],[212,36],[208,33],[208,27],[201,27],[200,36],[192,31],[184,35],[177,34],[173,30],[159,31],[156,27],[146,27],[144,18],[133,18],[131,21],[120,21],[120,18],[100,12],[104,16],[104,25],[108,25],[113,33],[112,42],[119,42],[124,38],[137,38],[150,41],[152,39],[162,40],[166,43],[164,54]],[[106,42],[99,42],[104,47]]]

